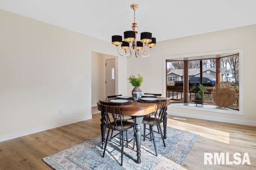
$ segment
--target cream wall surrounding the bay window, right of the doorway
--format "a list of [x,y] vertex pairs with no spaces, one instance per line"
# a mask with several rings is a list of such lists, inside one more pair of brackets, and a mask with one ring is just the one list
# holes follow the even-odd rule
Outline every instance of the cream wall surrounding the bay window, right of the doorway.
[[[164,58],[176,55],[243,49],[244,65],[240,67],[244,72],[244,75],[240,75],[244,76],[244,92],[240,92],[240,95],[244,96],[244,101],[240,101],[244,102],[243,115],[182,109],[172,106],[168,108],[168,114],[256,126],[256,111],[254,107],[256,103],[256,79],[253,78],[255,76],[253,70],[256,65],[255,47],[256,25],[161,41],[157,42],[157,46],[152,49],[152,55],[148,58],[128,59],[127,76],[132,74],[144,76],[144,82],[141,86],[142,92],[163,93]],[[127,89],[129,92],[132,87],[128,86]]]

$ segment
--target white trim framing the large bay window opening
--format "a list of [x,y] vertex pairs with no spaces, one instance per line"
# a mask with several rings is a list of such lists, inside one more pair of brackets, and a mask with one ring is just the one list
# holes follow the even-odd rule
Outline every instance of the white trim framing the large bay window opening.
[[171,105],[170,107],[183,108],[183,109],[185,108],[185,109],[192,109],[192,110],[198,109],[202,111],[211,111],[215,113],[244,115],[244,50],[243,49],[214,51],[214,52],[207,52],[207,53],[187,54],[187,55],[174,55],[174,56],[164,57],[163,58],[163,94],[164,96],[166,96],[166,60],[173,60],[173,59],[184,60],[192,57],[207,59],[206,56],[209,56],[209,55],[220,55],[220,54],[228,54],[228,53],[239,53],[239,111],[226,110],[226,109],[210,109],[210,108],[186,106],[186,105]]

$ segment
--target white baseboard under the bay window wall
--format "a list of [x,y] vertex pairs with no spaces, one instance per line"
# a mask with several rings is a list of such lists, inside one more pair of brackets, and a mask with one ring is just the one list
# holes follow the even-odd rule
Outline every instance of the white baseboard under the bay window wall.
[[171,110],[167,110],[168,115],[173,116],[180,116],[180,117],[190,117],[195,119],[203,119],[203,120],[211,120],[211,121],[220,121],[225,123],[234,123],[234,124],[240,124],[240,125],[248,125],[248,126],[256,126],[255,121],[247,121],[247,120],[241,120],[241,119],[232,119],[232,118],[226,118],[226,117],[216,117],[216,116],[210,116],[210,115],[197,115],[193,113],[182,113],[182,112],[175,112]]

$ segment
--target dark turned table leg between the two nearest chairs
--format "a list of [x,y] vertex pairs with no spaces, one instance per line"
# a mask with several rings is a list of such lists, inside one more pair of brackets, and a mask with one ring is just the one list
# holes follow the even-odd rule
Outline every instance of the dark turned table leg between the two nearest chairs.
[[141,142],[141,126],[140,123],[142,123],[143,116],[136,116],[134,117],[133,121],[136,123],[135,126],[135,141],[136,141],[136,147],[137,147],[137,160],[136,163],[140,164],[140,142]]

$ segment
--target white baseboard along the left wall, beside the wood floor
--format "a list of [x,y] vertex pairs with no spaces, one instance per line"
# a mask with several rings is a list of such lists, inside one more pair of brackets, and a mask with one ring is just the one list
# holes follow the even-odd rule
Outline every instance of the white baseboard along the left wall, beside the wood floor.
[[79,121],[92,119],[92,115],[90,115],[90,116],[91,117],[79,117],[79,118],[72,119],[72,120],[57,122],[57,123],[54,123],[54,124],[51,124],[51,125],[44,125],[42,127],[35,127],[33,129],[28,129],[26,131],[18,131],[16,133],[2,135],[2,136],[0,136],[0,142],[7,141],[7,140],[10,140],[10,139],[14,139],[14,138],[17,138],[17,137],[22,137],[22,136],[25,136],[25,135],[30,135],[30,134],[33,134],[33,133],[38,133],[38,132],[41,132],[41,131],[46,131],[48,129],[53,129],[53,128],[64,126],[64,125],[69,125],[69,124],[76,123],[76,122],[79,122]]

